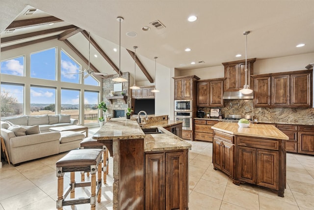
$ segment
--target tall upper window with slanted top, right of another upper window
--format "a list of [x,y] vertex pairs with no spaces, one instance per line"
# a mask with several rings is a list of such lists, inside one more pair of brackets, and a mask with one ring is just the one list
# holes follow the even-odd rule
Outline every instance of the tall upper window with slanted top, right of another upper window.
[[61,50],[61,81],[79,83],[80,65]]

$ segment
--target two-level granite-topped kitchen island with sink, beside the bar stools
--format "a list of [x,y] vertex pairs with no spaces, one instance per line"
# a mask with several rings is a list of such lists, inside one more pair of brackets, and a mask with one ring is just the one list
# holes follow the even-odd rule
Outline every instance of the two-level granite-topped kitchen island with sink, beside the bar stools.
[[119,118],[93,135],[113,156],[114,210],[188,208],[191,145],[157,129],[160,133],[144,134],[136,121]]

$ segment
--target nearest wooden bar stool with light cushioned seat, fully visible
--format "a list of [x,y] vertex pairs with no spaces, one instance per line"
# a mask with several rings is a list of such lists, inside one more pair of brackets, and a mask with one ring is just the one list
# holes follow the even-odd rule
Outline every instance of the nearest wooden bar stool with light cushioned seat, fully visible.
[[[62,210],[63,206],[88,203],[91,205],[91,210],[95,210],[96,197],[97,202],[99,203],[101,202],[102,194],[102,153],[102,149],[71,150],[68,154],[55,163],[58,177],[58,199],[56,201],[56,208],[58,210]],[[91,174],[91,181],[75,182],[75,172],[77,171],[89,171]],[[70,172],[70,185],[63,193],[63,176],[66,172]],[[98,173],[97,181],[96,172]],[[86,186],[90,186],[91,196],[76,199],[75,188]],[[65,200],[70,192],[70,199]]]

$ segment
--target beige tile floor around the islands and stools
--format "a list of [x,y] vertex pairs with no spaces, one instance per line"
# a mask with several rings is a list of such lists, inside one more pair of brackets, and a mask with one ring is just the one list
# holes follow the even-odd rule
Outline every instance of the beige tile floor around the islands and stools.
[[[90,129],[90,135],[96,130]],[[189,151],[189,210],[314,210],[314,156],[287,154],[287,189],[282,198],[266,189],[233,184],[226,175],[213,170],[211,143],[189,143],[192,144]],[[65,154],[29,161],[17,167],[4,163],[0,169],[0,210],[54,210],[55,162]],[[80,174],[76,176],[79,180]],[[65,180],[68,183],[69,174]],[[96,205],[97,210],[112,209],[112,183],[110,158],[107,184],[102,187],[102,202]],[[85,197],[89,192],[78,188],[76,194]],[[89,205],[64,209],[87,210]]]

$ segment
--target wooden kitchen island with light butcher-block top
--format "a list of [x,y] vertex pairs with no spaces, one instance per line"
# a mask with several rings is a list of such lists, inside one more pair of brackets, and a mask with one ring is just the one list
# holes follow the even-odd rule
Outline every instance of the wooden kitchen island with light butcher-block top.
[[286,136],[274,125],[219,122],[213,132],[214,169],[234,184],[250,183],[269,188],[284,197],[286,188]]

